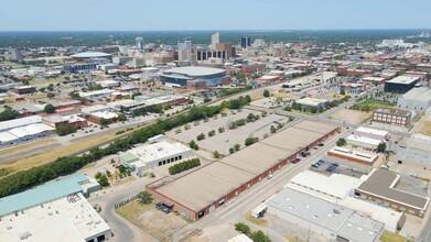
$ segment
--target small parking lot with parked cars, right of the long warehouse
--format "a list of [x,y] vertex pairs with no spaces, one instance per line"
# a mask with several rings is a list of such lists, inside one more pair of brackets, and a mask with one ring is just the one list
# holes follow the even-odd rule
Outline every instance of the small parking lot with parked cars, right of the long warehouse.
[[[353,176],[353,177],[360,177],[363,175],[367,175],[373,167],[357,164],[357,163],[352,163],[348,161],[335,158],[335,157],[330,157],[330,156],[323,156],[321,161],[324,161],[321,165],[316,166],[316,164],[320,160],[315,161],[312,166],[310,166],[310,169],[313,172],[317,173],[323,173],[326,175],[331,175],[333,173],[337,174],[343,174],[347,176]],[[338,164],[332,165],[332,164]]]

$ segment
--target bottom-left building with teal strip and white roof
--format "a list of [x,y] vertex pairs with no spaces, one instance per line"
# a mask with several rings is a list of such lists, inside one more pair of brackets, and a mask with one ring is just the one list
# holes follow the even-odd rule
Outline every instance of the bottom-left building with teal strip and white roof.
[[109,240],[110,228],[84,197],[97,189],[95,179],[76,175],[1,198],[0,241]]

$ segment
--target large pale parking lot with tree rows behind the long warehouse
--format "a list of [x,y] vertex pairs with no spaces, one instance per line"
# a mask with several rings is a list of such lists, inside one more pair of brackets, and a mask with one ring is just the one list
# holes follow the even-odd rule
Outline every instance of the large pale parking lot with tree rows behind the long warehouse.
[[[235,114],[233,114],[235,113]],[[248,122],[245,125],[238,127],[234,130],[229,130],[229,123],[239,119],[246,119],[249,113],[255,116],[261,116],[261,112],[243,110],[241,112],[229,112],[226,117],[220,114],[217,118],[212,118],[208,122],[201,121],[197,125],[194,123],[188,123],[190,129],[185,130],[184,127],[181,127],[181,133],[179,131],[172,130],[166,133],[168,136],[173,140],[188,143],[194,140],[197,145],[206,151],[218,151],[220,154],[228,154],[229,147],[233,147],[235,144],[239,144],[240,147],[245,146],[245,140],[249,136],[263,139],[265,134],[270,134],[271,125],[277,127],[278,123],[285,123],[289,121],[289,118],[269,114],[265,118],[260,118],[257,121]],[[219,128],[224,128],[223,133],[218,132]],[[208,132],[214,130],[215,135],[208,136]],[[196,136],[201,133],[205,134],[205,140],[197,141]]]

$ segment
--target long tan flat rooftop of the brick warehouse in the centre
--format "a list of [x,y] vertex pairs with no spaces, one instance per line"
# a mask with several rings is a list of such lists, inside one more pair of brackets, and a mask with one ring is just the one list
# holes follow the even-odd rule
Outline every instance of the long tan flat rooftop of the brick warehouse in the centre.
[[157,191],[200,211],[335,129],[332,125],[302,121],[168,183],[157,188]]

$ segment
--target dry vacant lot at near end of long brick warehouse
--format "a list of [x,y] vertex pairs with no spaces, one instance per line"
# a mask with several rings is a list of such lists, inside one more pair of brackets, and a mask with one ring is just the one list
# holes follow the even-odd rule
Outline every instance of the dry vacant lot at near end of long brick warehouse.
[[131,201],[117,209],[117,212],[139,228],[152,234],[160,241],[170,241],[171,235],[185,227],[187,222],[173,213],[165,215],[154,208],[155,200],[150,205]]

